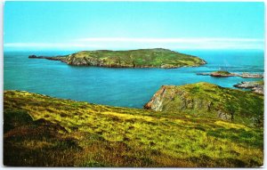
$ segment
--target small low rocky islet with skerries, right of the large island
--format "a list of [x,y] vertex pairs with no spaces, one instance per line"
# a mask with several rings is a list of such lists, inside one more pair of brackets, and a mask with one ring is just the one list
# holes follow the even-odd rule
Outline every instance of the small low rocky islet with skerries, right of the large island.
[[211,76],[211,77],[242,77],[242,78],[263,78],[261,74],[249,74],[249,73],[231,73],[225,70],[214,71],[212,73],[197,73],[197,75],[201,76]]

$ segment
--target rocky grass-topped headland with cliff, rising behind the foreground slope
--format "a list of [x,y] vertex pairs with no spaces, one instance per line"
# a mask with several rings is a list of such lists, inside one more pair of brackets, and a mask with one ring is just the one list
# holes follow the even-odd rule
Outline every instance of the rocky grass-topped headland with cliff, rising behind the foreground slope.
[[144,108],[182,111],[249,125],[263,124],[262,95],[208,83],[163,85]]

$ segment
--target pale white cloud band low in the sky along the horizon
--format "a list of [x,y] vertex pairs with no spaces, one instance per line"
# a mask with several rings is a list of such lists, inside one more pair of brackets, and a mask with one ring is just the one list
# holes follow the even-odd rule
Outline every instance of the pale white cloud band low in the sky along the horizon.
[[85,37],[74,38],[72,42],[4,43],[4,48],[93,48],[93,49],[129,49],[129,48],[167,48],[167,49],[263,49],[262,38],[143,38],[143,37]]

